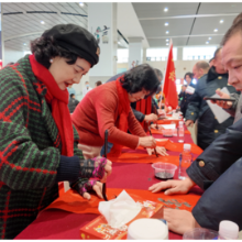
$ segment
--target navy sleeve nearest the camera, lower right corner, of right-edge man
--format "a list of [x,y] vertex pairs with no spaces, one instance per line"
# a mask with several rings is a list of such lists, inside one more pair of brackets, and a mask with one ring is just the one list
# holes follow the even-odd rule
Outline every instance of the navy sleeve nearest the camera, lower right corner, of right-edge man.
[[193,210],[200,227],[219,230],[222,220],[242,228],[242,160],[237,161],[210,186]]

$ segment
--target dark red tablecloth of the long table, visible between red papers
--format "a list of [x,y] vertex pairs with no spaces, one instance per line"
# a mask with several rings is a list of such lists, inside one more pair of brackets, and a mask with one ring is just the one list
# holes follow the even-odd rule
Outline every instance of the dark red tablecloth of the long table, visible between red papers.
[[[163,139],[160,134],[154,136]],[[178,142],[176,136],[170,138],[170,140]],[[185,143],[194,143],[190,134],[185,134]],[[168,152],[168,154],[179,155],[178,152]],[[177,175],[176,172],[175,178],[177,178]],[[155,178],[151,164],[113,163],[113,170],[108,178],[107,188],[146,190],[157,182],[161,180]],[[201,195],[202,191],[195,188],[191,193]],[[79,229],[95,218],[97,218],[97,215],[77,215],[63,210],[45,210],[14,241],[79,241]],[[170,241],[182,241],[182,239],[180,235],[169,232]]]

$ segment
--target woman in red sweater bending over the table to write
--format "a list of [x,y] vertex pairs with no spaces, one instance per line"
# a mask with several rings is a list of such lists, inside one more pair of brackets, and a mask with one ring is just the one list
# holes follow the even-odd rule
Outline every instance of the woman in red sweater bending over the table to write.
[[[122,146],[146,147],[147,152],[156,146],[156,141],[147,136],[135,119],[130,102],[139,101],[153,95],[160,81],[154,69],[147,64],[139,65],[119,77],[95,88],[85,96],[75,109],[72,119],[80,140],[79,147],[86,157],[100,154],[105,144],[105,131],[109,131],[113,143],[110,155],[119,156]],[[127,133],[129,131],[132,134]],[[156,147],[157,153],[166,155],[164,147]]]

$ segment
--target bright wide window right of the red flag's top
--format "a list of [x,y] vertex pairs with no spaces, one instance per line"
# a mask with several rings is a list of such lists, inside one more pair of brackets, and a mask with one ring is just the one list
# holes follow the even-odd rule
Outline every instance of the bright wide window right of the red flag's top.
[[183,61],[188,59],[210,59],[216,52],[217,46],[209,47],[184,47]]

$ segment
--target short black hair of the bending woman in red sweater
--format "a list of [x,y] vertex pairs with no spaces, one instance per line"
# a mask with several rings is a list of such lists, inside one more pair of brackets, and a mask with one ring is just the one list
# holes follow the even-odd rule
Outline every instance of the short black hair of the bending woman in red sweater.
[[144,89],[150,91],[148,96],[152,96],[160,86],[155,70],[147,64],[130,69],[120,81],[128,94],[135,94]]

